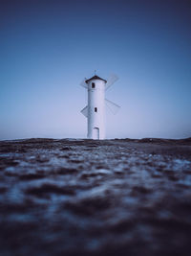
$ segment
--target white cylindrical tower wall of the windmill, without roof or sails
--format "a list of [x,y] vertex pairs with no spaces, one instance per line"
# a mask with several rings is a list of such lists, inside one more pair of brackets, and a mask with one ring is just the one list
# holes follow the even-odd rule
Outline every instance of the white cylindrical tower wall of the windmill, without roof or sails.
[[88,81],[88,138],[105,138],[105,81],[102,80]]

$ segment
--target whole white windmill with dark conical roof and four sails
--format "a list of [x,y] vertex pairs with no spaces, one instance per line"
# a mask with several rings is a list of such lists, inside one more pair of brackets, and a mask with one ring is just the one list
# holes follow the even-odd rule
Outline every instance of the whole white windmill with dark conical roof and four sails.
[[105,99],[105,90],[117,79],[117,76],[112,75],[106,81],[95,74],[91,79],[84,79],[80,83],[88,90],[88,105],[81,110],[88,119],[88,139],[105,139],[105,105],[108,105],[114,114],[119,108],[118,105]]

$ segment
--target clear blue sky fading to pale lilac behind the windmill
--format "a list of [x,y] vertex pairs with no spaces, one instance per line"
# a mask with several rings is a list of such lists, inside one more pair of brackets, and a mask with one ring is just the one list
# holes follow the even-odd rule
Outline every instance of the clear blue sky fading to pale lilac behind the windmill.
[[0,139],[85,138],[95,69],[107,138],[191,136],[191,1],[1,0]]

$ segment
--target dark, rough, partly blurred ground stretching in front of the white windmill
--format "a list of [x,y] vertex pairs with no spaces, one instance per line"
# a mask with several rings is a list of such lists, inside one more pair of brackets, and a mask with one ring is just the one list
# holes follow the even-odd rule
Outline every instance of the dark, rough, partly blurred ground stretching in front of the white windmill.
[[191,255],[191,139],[0,142],[0,255]]

